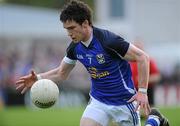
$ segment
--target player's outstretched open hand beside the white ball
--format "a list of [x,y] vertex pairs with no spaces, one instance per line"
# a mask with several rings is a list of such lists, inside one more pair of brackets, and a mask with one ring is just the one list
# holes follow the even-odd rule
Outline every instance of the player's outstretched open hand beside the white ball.
[[16,90],[20,90],[21,94],[24,94],[33,84],[37,81],[37,75],[32,70],[29,75],[20,77],[16,81]]

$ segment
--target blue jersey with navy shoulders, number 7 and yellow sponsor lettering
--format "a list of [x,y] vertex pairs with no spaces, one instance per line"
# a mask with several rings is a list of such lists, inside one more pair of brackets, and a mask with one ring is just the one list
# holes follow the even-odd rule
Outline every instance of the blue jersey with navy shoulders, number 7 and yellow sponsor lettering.
[[89,46],[71,43],[66,57],[79,60],[91,75],[90,95],[109,105],[127,104],[134,94],[129,63],[122,59],[129,43],[107,30],[93,27]]

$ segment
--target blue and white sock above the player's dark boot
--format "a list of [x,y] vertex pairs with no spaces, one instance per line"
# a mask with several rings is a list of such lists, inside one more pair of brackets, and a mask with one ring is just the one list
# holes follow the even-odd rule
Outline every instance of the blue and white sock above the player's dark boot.
[[160,126],[159,118],[157,116],[150,115],[145,126]]

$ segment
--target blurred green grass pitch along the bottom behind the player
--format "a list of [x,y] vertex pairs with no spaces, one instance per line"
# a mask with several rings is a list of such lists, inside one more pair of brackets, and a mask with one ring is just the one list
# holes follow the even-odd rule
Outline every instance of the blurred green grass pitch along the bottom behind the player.
[[[0,111],[0,126],[79,126],[83,110],[7,107]],[[160,111],[169,119],[171,126],[180,126],[180,107],[160,108]]]

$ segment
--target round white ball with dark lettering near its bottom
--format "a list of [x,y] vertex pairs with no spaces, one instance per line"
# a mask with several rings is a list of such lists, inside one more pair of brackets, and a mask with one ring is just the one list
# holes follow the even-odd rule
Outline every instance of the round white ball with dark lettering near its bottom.
[[32,102],[39,108],[53,106],[59,97],[58,86],[51,80],[41,79],[36,81],[30,90]]

